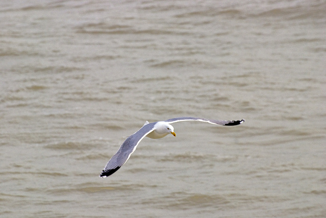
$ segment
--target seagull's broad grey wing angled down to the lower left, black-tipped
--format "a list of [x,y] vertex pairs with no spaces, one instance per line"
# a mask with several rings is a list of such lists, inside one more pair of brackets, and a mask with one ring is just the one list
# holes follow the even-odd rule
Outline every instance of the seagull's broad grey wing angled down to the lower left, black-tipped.
[[133,151],[137,148],[139,142],[150,132],[154,130],[154,124],[152,122],[143,126],[139,131],[129,136],[120,146],[119,150],[113,155],[110,161],[105,165],[100,177],[110,176],[116,172],[122,165],[124,165]]

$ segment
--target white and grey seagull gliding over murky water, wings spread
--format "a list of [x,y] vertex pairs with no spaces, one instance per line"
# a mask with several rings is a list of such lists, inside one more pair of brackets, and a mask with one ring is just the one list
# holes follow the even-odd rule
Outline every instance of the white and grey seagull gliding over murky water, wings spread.
[[168,134],[172,134],[176,136],[174,133],[174,128],[171,126],[171,123],[181,122],[181,121],[201,121],[208,122],[215,125],[221,126],[236,126],[244,122],[244,119],[241,120],[213,120],[213,119],[203,119],[197,117],[176,117],[167,119],[165,121],[157,121],[157,122],[148,122],[146,121],[144,126],[131,136],[129,136],[121,145],[119,150],[113,155],[110,161],[105,165],[102,173],[99,177],[105,178],[107,176],[112,175],[117,170],[124,165],[133,151],[137,148],[140,141],[146,137],[152,139],[159,139],[167,136]]

